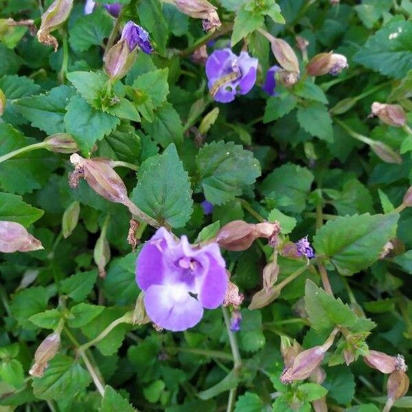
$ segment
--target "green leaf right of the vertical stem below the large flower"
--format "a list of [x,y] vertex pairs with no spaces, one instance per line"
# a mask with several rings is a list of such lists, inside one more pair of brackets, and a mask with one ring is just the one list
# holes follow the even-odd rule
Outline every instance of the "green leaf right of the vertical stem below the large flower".
[[239,341],[242,350],[256,352],[266,343],[262,327],[262,314],[259,310],[242,309],[242,328]]

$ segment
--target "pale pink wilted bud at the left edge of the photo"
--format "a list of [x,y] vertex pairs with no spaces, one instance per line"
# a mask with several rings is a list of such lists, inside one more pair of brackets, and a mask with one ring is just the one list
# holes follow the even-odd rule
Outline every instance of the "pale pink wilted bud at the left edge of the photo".
[[30,252],[44,249],[41,241],[16,222],[0,220],[0,252]]

